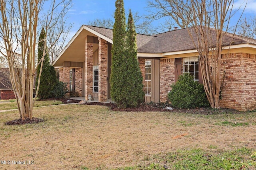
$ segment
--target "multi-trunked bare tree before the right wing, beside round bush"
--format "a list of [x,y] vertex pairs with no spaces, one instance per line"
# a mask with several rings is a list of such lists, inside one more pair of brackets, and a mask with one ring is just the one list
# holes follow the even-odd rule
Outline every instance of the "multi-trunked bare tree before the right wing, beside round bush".
[[[223,40],[233,16],[233,0],[155,0],[162,8],[159,17],[167,14],[178,18],[199,54],[206,96],[212,108],[220,108],[220,92],[224,82],[221,73]],[[161,4],[160,4],[161,3]],[[167,8],[164,5],[168,5]],[[231,43],[231,42],[230,42]],[[230,44],[226,44],[230,45]]]

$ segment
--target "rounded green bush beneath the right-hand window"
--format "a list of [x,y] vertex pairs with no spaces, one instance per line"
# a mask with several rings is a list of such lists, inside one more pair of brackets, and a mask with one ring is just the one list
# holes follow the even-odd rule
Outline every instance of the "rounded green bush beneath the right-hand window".
[[168,94],[173,107],[194,108],[209,106],[204,86],[194,81],[189,73],[181,75],[178,81],[171,85],[172,90]]

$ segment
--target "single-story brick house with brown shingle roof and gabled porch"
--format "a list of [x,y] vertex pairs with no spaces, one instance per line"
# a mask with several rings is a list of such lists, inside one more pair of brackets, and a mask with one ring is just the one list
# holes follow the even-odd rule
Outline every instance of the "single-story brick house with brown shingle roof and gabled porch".
[[[110,98],[112,38],[112,29],[82,25],[53,62],[60,70],[60,81],[67,82],[77,96],[88,100],[92,94],[99,102]],[[256,40],[227,33],[225,45],[222,68],[226,78],[220,106],[256,109]],[[137,34],[137,46],[146,102],[166,102],[170,84],[184,72],[202,83],[198,53],[187,29]]]

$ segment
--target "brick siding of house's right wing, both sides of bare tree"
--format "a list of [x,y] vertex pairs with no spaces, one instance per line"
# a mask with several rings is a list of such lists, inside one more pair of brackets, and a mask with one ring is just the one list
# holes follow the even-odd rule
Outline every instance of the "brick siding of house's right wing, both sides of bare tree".
[[[222,55],[222,72],[223,68],[226,74],[220,107],[239,111],[256,109],[256,55],[247,53]],[[160,60],[160,102],[166,102],[167,92],[171,90],[172,83],[174,83],[174,59],[162,59]]]

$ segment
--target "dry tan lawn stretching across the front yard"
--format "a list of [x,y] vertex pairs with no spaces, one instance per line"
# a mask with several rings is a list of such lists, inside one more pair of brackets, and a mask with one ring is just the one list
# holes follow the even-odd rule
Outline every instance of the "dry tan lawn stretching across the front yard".
[[113,169],[148,164],[147,157],[178,149],[256,147],[255,112],[193,115],[65,105],[35,108],[34,117],[45,122],[9,126],[4,123],[18,113],[0,113],[0,160],[34,161],[0,169]]

